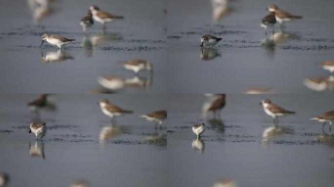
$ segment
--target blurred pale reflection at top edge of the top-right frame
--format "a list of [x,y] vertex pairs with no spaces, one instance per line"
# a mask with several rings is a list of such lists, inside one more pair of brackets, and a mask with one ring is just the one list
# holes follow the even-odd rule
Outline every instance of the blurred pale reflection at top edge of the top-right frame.
[[211,0],[212,20],[217,22],[234,11],[229,7],[228,2],[231,0]]

